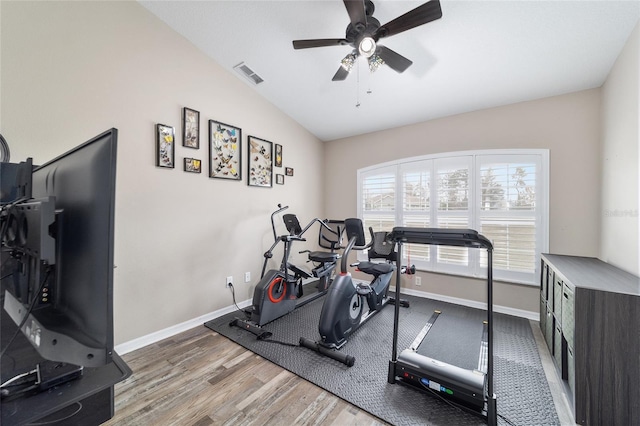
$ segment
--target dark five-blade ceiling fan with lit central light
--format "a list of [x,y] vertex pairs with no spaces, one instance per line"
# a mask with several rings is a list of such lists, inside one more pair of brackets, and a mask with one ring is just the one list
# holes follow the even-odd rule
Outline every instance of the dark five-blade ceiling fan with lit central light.
[[413,62],[388,47],[379,45],[378,40],[399,34],[442,17],[440,0],[431,0],[384,25],[380,25],[380,21],[373,17],[375,7],[371,0],[343,1],[349,14],[349,19],[351,20],[349,25],[347,25],[344,38],[293,41],[294,49],[352,46],[353,51],[342,59],[340,68],[338,68],[338,71],[333,76],[333,81],[346,79],[356,59],[360,55],[367,58],[371,71],[375,71],[382,64],[387,64],[391,69],[399,73],[404,72]]

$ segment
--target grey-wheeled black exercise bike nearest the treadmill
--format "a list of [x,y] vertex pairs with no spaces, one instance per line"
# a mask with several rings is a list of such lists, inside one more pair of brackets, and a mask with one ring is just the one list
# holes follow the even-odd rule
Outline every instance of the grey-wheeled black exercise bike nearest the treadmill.
[[[320,313],[318,331],[321,340],[314,342],[301,337],[299,343],[300,346],[351,367],[355,363],[355,357],[336,352],[336,349],[342,348],[354,331],[387,304],[400,303],[401,306],[408,307],[409,302],[396,301],[387,294],[391,278],[396,271],[396,266],[390,263],[395,260],[395,243],[387,241],[387,233],[373,232],[373,229],[369,228],[371,242],[365,245],[364,229],[360,219],[346,219],[345,230],[349,243],[342,255],[340,275],[336,276],[329,288]],[[351,266],[357,266],[359,271],[373,275],[373,280],[369,284],[356,284],[348,271],[347,259],[351,250],[365,249],[369,249],[369,262],[359,262]],[[375,263],[371,262],[371,259],[385,259],[387,262]]]

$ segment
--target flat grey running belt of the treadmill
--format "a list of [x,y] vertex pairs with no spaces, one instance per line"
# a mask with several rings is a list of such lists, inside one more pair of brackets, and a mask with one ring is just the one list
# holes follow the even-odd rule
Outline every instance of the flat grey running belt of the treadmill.
[[[475,314],[475,315],[474,315]],[[483,321],[486,317],[466,310],[442,310],[417,353],[467,370],[478,368]]]

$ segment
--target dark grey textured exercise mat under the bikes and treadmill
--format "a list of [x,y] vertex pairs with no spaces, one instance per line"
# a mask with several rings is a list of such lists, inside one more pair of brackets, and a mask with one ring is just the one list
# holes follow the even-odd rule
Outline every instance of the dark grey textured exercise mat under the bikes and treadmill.
[[[486,317],[482,310],[412,296],[404,298],[410,301],[411,306],[400,308],[399,350],[409,347],[434,310],[443,312],[438,321],[444,315],[472,318],[473,321]],[[324,298],[313,301],[264,328],[273,333],[272,340],[291,344],[297,344],[300,337],[316,340],[323,301]],[[406,385],[387,383],[393,311],[393,305],[385,307],[350,337],[342,352],[355,356],[353,367],[306,348],[259,341],[245,330],[230,327],[233,318],[242,317],[240,312],[209,321],[205,326],[388,423],[486,424],[483,419],[434,396]],[[463,325],[458,322],[456,328],[461,327]],[[476,331],[473,333],[477,334]],[[454,336],[455,332],[451,330]],[[478,342],[480,338],[480,335],[476,337]],[[494,314],[494,366],[494,392],[500,416],[498,424],[509,424],[505,419],[515,425],[559,424],[528,320]]]

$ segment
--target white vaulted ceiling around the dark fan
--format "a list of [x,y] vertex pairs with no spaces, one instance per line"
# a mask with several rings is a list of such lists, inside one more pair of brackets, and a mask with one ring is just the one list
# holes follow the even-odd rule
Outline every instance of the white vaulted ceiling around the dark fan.
[[[411,59],[403,74],[366,63],[331,78],[349,46],[341,0],[140,1],[323,141],[601,86],[640,18],[640,1],[447,1],[437,21],[381,39]],[[424,1],[374,0],[384,24]],[[367,93],[368,91],[371,93]],[[359,101],[360,106],[356,107]]]

